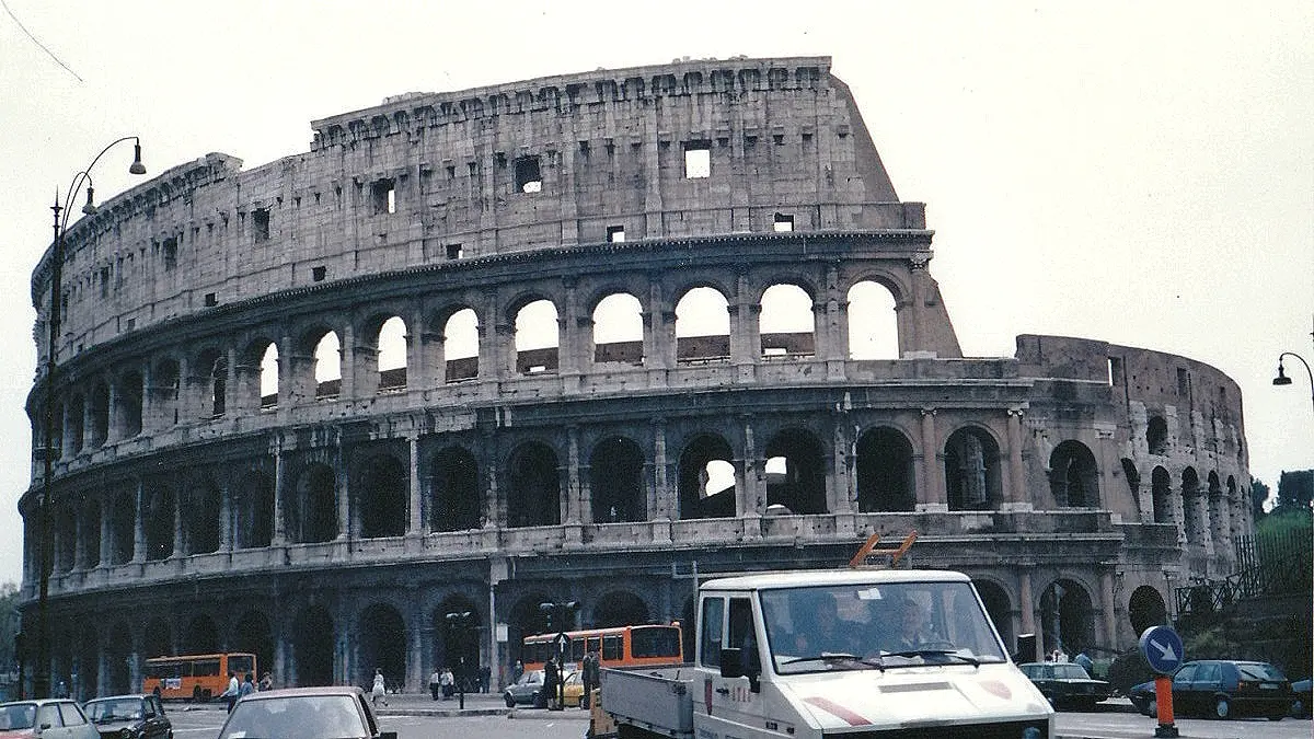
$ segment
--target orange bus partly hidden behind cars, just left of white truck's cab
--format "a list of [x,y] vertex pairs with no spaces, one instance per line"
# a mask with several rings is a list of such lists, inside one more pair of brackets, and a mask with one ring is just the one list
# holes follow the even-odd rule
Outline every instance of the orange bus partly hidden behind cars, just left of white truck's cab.
[[[568,669],[578,668],[585,652],[598,652],[600,667],[685,661],[685,647],[678,621],[670,625],[583,629],[566,631],[566,635],[570,636],[570,648],[562,657]],[[533,634],[524,638],[520,663],[526,672],[543,669],[548,657],[556,654],[553,646],[556,636],[556,634]]]

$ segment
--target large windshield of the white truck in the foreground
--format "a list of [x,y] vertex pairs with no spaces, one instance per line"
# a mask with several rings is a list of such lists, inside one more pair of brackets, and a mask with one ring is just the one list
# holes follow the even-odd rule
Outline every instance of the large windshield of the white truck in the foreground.
[[777,673],[1005,661],[968,583],[762,590]]

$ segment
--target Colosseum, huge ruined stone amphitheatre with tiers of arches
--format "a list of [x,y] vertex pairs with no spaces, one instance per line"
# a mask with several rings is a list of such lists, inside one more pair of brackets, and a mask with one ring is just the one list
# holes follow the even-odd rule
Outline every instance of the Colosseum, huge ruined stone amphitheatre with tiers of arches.
[[[280,684],[378,665],[420,689],[463,656],[497,685],[540,604],[689,618],[702,576],[913,530],[1007,643],[1121,650],[1252,531],[1218,370],[1053,335],[963,356],[925,206],[829,58],[407,93],[311,129],[70,226],[54,347],[53,249],[33,272],[38,459],[59,360],[49,669],[76,696],[219,650]],[[43,489],[34,464],[29,634]]]

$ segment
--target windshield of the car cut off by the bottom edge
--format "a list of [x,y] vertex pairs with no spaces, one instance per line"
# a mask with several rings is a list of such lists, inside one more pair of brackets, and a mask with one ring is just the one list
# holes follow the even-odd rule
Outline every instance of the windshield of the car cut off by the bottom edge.
[[219,739],[363,739],[364,718],[351,696],[289,696],[240,701]]

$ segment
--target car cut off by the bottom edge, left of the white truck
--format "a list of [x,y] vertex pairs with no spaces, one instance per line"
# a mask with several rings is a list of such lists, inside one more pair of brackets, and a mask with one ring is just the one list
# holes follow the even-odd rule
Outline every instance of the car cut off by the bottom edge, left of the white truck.
[[251,693],[238,701],[219,739],[397,739],[381,731],[360,688],[288,688]]

